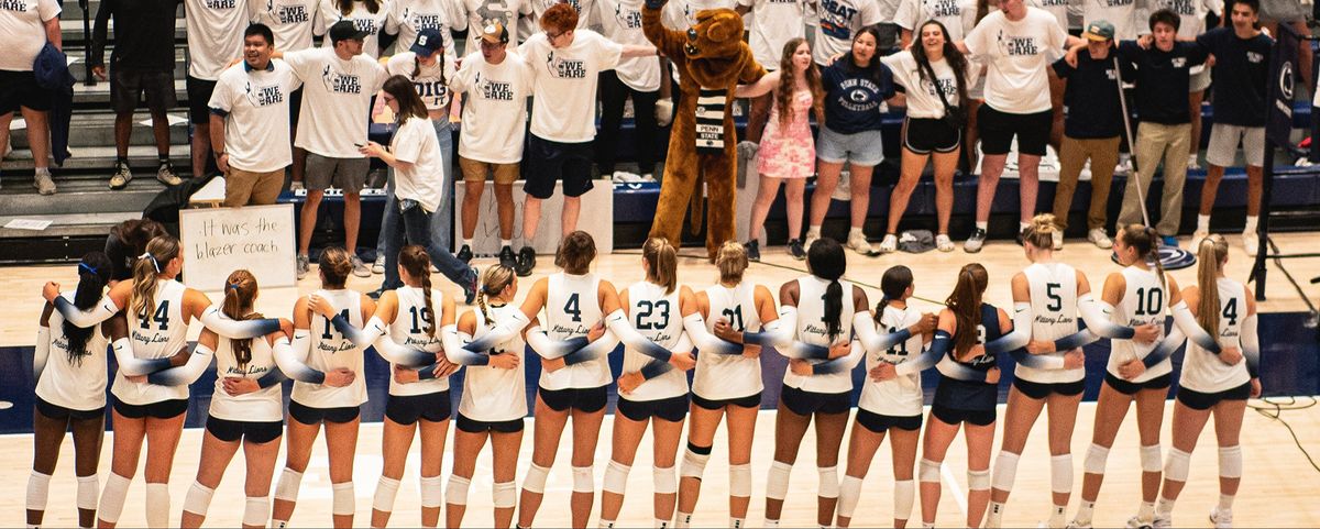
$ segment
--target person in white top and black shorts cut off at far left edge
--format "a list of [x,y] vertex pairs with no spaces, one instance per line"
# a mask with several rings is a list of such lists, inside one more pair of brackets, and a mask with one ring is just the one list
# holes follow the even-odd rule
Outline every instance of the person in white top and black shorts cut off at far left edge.
[[32,63],[41,49],[50,42],[62,49],[59,33],[59,4],[55,0],[24,0],[7,3],[0,9],[0,149],[9,145],[9,123],[13,112],[21,111],[28,124],[28,144],[36,175],[32,185],[37,193],[55,193],[50,179],[50,109],[51,94],[37,86]]

